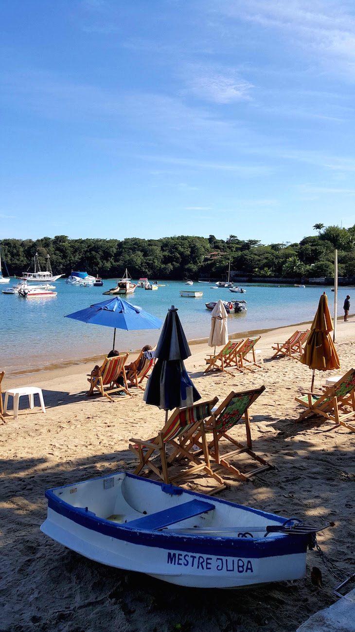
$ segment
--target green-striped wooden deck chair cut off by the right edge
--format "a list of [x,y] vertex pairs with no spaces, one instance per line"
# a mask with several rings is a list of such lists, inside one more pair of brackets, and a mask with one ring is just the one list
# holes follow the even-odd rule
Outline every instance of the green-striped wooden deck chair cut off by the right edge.
[[[322,416],[336,425],[345,426],[355,432],[355,369],[351,368],[334,386],[326,386],[323,394],[305,393],[296,401],[306,410],[296,420],[303,422],[307,417]],[[352,423],[346,420],[353,419]]]

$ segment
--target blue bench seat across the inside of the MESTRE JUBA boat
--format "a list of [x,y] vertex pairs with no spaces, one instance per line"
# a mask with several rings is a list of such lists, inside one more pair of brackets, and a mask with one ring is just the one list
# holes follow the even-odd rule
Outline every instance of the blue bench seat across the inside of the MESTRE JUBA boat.
[[126,526],[133,526],[136,529],[147,529],[147,531],[153,531],[156,529],[162,529],[164,526],[174,525],[176,522],[186,520],[186,518],[193,518],[199,516],[202,513],[211,511],[215,506],[210,502],[199,501],[197,499],[189,502],[184,502],[182,505],[176,505],[164,509],[163,511],[157,511],[147,516],[142,516],[136,520],[131,520],[126,523]]

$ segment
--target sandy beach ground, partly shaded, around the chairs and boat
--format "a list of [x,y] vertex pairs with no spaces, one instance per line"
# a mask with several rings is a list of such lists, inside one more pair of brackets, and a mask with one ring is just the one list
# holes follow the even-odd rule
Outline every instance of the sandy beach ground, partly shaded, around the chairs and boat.
[[[311,371],[296,360],[270,361],[271,346],[296,327],[262,334],[263,368],[255,373],[207,374],[207,344],[192,344],[185,365],[203,399],[220,401],[230,391],[266,390],[251,408],[251,434],[256,453],[273,470],[248,482],[224,475],[229,487],[219,494],[282,516],[305,521],[334,521],[318,542],[346,578],[354,573],[355,434],[344,427],[312,420],[295,424],[301,408],[294,398],[311,384]],[[337,351],[341,376],[355,367],[355,318],[339,320]],[[135,357],[135,355],[133,355]],[[100,358],[97,358],[100,363]],[[256,586],[239,591],[193,590],[153,580],[138,573],[100,566],[45,537],[45,489],[133,471],[131,437],[152,437],[164,423],[164,411],[132,398],[87,398],[91,363],[18,375],[3,380],[3,391],[33,385],[44,393],[46,414],[28,410],[21,399],[17,419],[12,411],[1,424],[1,632],[234,632],[294,631],[314,612],[335,601],[338,585],[316,550],[308,552],[303,580]],[[330,372],[316,374],[316,386]],[[242,428],[236,429],[236,436]],[[203,491],[204,480],[189,489]],[[318,566],[322,586],[311,583]],[[355,628],[354,628],[355,629]]]

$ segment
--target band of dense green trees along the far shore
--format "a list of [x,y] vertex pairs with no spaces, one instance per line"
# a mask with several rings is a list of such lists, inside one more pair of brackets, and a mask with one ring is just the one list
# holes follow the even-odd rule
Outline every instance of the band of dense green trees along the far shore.
[[[1,242],[9,274],[21,274],[32,265],[35,252],[44,263],[51,256],[56,274],[69,275],[71,270],[87,270],[102,277],[119,277],[127,267],[133,278],[184,279],[199,276],[225,276],[231,257],[231,269],[250,277],[301,278],[332,277],[334,248],[339,250],[339,276],[355,276],[355,226],[339,228],[315,224],[318,234],[304,237],[299,243],[271,243],[227,240],[195,236],[164,237],[158,240],[129,238],[69,239],[54,238]],[[215,254],[214,254],[215,253]]]

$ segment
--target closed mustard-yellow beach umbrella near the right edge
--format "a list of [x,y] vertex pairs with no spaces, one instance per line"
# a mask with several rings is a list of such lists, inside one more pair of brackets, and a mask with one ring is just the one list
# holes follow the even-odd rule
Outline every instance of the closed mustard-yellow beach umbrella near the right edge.
[[300,362],[313,369],[311,391],[315,382],[315,369],[331,371],[334,368],[340,368],[330,331],[333,331],[333,321],[328,308],[328,298],[324,292],[320,297],[310,335],[300,358]]

